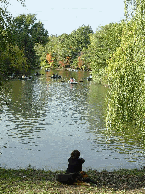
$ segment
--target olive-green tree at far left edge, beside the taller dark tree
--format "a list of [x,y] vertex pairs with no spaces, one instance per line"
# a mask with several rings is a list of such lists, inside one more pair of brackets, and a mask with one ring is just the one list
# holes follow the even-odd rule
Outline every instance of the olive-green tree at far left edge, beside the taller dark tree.
[[[19,0],[22,4],[23,0]],[[20,66],[21,62],[25,63],[25,58],[23,57],[23,51],[20,51],[18,47],[15,45],[12,33],[10,29],[10,25],[12,22],[12,16],[9,12],[7,12],[7,5],[9,1],[0,0],[1,8],[0,8],[0,81],[5,75],[8,75],[9,71],[14,71],[14,66]],[[12,55],[11,55],[12,54]],[[17,55],[20,57],[17,62],[12,60],[13,58],[17,58]],[[12,62],[13,61],[13,62]],[[13,64],[13,65],[12,65]],[[16,69],[17,69],[16,68]]]

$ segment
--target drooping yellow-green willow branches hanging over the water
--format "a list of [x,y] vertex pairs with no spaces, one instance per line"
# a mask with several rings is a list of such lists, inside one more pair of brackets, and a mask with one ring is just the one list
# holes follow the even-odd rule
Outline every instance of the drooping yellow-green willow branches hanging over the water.
[[[145,3],[137,6],[136,13],[123,27],[121,45],[108,60],[107,127],[127,132],[133,129],[144,139],[145,116]],[[131,130],[132,131],[132,130]],[[145,143],[145,142],[144,142]]]

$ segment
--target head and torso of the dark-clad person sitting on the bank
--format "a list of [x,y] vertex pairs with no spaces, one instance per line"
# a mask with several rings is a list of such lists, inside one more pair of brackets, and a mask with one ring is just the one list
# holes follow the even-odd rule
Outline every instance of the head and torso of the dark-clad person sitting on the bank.
[[68,159],[69,164],[66,173],[79,173],[82,171],[82,164],[85,160],[79,157],[80,152],[78,150],[74,150],[71,153],[71,157]]

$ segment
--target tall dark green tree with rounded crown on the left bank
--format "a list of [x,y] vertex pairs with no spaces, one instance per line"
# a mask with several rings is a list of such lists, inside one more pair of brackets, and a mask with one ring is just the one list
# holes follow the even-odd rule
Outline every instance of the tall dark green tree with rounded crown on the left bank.
[[37,56],[34,49],[36,43],[45,45],[48,41],[48,32],[41,22],[36,23],[33,14],[20,15],[13,19],[13,38],[20,49],[24,50],[29,68],[37,66]]

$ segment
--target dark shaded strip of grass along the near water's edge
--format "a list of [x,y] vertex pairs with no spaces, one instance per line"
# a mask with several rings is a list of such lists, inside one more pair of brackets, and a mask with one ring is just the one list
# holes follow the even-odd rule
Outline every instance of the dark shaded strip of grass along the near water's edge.
[[[29,184],[37,185],[41,184],[42,187],[46,185],[46,182],[54,183],[54,187],[62,187],[62,184],[57,184],[55,180],[56,174],[65,173],[65,171],[44,171],[36,170],[28,167],[27,169],[3,169],[0,168],[0,186],[5,191],[7,185],[19,185]],[[145,169],[141,170],[118,170],[113,172],[96,170],[88,170],[87,174],[90,179],[96,182],[96,185],[91,184],[98,189],[106,188],[117,190],[135,190],[145,188]],[[56,184],[55,184],[56,183]],[[144,189],[145,191],[145,189]]]

